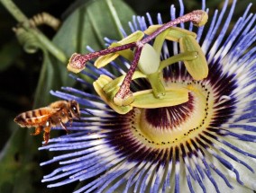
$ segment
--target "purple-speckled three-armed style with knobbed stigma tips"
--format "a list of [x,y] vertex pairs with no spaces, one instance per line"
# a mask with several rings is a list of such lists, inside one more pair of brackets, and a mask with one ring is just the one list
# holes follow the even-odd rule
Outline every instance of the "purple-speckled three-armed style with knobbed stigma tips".
[[114,103],[116,105],[118,106],[129,105],[133,102],[133,92],[130,91],[130,85],[132,82],[135,69],[138,66],[138,62],[140,60],[140,57],[142,54],[142,48],[144,47],[144,45],[150,42],[151,39],[155,39],[158,35],[160,35],[161,32],[166,31],[172,26],[175,26],[183,22],[193,22],[196,26],[201,26],[206,23],[207,18],[208,16],[206,12],[202,10],[197,10],[192,13],[187,13],[183,16],[180,16],[173,21],[167,22],[166,24],[163,24],[159,29],[152,32],[151,35],[149,35],[145,39],[142,39],[142,40],[137,39],[136,42],[123,44],[121,46],[117,46],[114,48],[106,48],[104,50],[89,53],[87,55],[81,55],[81,54],[75,53],[69,59],[68,69],[69,71],[78,73],[85,68],[86,62],[88,60],[91,60],[95,57],[105,56],[110,53],[116,53],[124,49],[135,48],[134,58],[133,58],[131,67],[128,73],[126,74],[119,91],[114,96]]

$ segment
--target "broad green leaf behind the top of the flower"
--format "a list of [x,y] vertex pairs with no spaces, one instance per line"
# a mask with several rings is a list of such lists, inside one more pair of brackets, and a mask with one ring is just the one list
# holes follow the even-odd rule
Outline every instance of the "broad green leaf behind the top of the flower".
[[[113,0],[113,4],[124,30],[128,31],[128,22],[134,14],[132,9],[120,0]],[[74,52],[87,53],[87,45],[96,50],[104,48],[105,37],[122,39],[116,25],[106,0],[89,1],[63,22],[53,42],[58,42],[68,56]]]

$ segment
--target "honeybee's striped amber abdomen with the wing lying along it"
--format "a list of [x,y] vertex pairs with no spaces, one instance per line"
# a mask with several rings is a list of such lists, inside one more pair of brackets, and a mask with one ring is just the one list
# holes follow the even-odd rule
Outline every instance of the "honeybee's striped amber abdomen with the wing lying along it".
[[21,127],[37,127],[42,126],[46,121],[59,109],[52,109],[50,107],[44,107],[37,110],[30,110],[21,113],[14,121]]

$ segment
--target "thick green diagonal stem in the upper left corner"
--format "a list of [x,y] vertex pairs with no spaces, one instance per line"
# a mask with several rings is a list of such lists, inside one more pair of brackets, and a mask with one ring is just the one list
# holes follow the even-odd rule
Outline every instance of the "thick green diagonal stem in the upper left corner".
[[2,3],[5,8],[8,10],[9,13],[11,13],[15,20],[17,22],[20,22],[23,24],[23,28],[26,31],[29,31],[32,33],[33,36],[36,37],[41,43],[41,45],[44,48],[47,48],[48,51],[56,58],[59,59],[60,62],[66,64],[68,57],[57,48],[46,36],[44,36],[41,31],[37,30],[36,28],[31,28],[31,26],[28,24],[29,19],[23,14],[23,12],[14,4],[12,0],[0,0],[0,3]]

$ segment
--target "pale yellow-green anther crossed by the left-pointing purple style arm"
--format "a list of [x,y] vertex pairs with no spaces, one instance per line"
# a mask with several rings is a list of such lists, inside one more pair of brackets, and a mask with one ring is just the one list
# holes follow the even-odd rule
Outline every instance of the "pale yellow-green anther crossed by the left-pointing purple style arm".
[[[124,39],[121,39],[120,41],[114,42],[113,44],[110,45],[109,48],[114,48],[117,46],[122,46],[124,44],[129,44],[133,43],[135,41],[141,40],[144,37],[144,33],[142,31],[135,31],[131,35],[127,36]],[[125,52],[126,51],[126,52]],[[119,55],[122,55],[121,52],[127,53],[127,50],[111,53],[102,57],[98,57],[95,62],[95,66],[97,68],[104,67],[108,63],[114,61],[116,57],[119,57]]]

